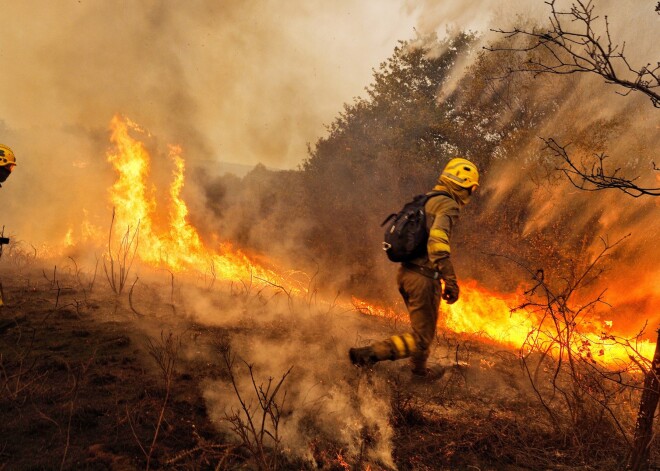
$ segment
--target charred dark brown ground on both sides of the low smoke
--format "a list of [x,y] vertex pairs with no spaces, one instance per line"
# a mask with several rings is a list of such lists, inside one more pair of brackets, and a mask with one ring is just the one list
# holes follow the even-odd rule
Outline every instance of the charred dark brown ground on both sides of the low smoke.
[[[11,273],[0,278],[0,470],[614,470],[625,461],[614,430],[594,434],[585,424],[580,440],[557,434],[516,352],[445,335],[444,356],[426,379],[401,362],[339,365],[349,382],[387,385],[393,466],[363,453],[373,440],[368,430],[357,454],[321,437],[310,440],[312,461],[282,455],[265,465],[221,432],[203,394],[209,381],[229,381],[222,348],[244,325],[187,319],[163,296],[166,284],[153,288],[153,305],[141,311],[128,286],[115,296],[100,278],[93,286],[76,273]],[[168,376],[175,340],[215,353],[178,355]]]

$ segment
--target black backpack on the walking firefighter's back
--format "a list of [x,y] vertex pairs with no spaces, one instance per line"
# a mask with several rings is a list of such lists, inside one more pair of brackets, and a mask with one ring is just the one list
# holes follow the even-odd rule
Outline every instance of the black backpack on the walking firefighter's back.
[[393,262],[409,262],[426,253],[429,232],[426,228],[424,205],[429,198],[438,195],[451,198],[445,191],[417,195],[411,202],[406,203],[401,211],[387,216],[381,224],[381,227],[387,224],[383,241],[387,258]]

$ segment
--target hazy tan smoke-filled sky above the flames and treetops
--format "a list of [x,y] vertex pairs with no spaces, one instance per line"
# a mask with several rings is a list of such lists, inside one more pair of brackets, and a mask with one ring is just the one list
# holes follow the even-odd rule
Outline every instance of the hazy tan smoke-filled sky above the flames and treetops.
[[[651,0],[629,2],[653,13]],[[493,17],[500,25],[516,14],[544,17],[547,6],[0,0],[0,142],[13,138],[19,155],[44,159],[31,142],[57,141],[52,133],[63,132],[68,147],[80,144],[74,152],[85,164],[95,157],[84,155],[80,140],[100,139],[112,115],[122,113],[182,145],[191,161],[294,168],[343,103],[363,94],[372,69],[398,40],[416,32],[444,35],[452,26],[486,31]]]

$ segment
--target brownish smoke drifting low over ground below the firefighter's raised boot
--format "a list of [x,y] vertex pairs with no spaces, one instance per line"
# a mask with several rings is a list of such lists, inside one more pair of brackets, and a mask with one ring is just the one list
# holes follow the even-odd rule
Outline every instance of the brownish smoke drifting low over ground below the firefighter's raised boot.
[[[374,319],[361,322],[345,305],[327,303],[311,293],[289,297],[260,286],[235,287],[232,292],[227,297],[217,290],[186,288],[180,301],[195,322],[227,329],[220,349],[230,348],[235,386],[255,417],[261,417],[261,409],[252,379],[264,389],[272,380],[272,391],[290,370],[275,396],[282,406],[279,434],[285,453],[314,462],[314,445],[331,444],[347,456],[364,453],[371,461],[393,467],[393,430],[383,413],[389,409],[390,385],[386,377],[349,367],[346,356],[356,341],[368,340],[357,339],[357,331],[373,340],[386,335],[387,329]],[[209,361],[218,362],[221,356],[218,345],[192,348],[196,355],[210,355]],[[220,430],[231,431],[228,418],[236,413],[247,419],[226,374],[203,387],[209,415]],[[272,424],[267,427],[275,432]]]

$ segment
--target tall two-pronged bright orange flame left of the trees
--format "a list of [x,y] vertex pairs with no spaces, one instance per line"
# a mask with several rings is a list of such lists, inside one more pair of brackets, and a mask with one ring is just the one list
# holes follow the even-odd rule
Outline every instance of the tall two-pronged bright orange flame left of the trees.
[[[147,185],[149,153],[144,144],[131,136],[131,132],[144,133],[139,126],[121,116],[111,123],[111,141],[116,149],[107,154],[118,178],[110,189],[110,200],[115,207],[115,220],[120,230],[138,231],[138,257],[155,266],[175,272],[210,267],[220,279],[241,280],[252,276],[281,285],[284,278],[274,271],[251,262],[240,250],[231,250],[221,244],[217,250],[207,248],[197,230],[188,223],[188,208],[181,198],[184,185],[185,163],[181,148],[170,146],[169,157],[174,164],[173,182],[169,190],[169,220],[163,230],[154,222],[157,204],[153,190]],[[287,281],[294,291],[297,286]]]

